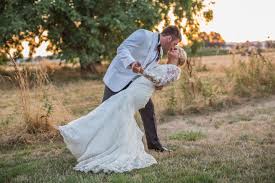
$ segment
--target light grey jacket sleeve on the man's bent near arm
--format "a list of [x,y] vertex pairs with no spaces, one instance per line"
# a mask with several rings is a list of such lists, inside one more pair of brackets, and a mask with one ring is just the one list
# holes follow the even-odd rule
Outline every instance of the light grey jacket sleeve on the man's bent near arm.
[[117,56],[123,62],[126,69],[130,69],[130,64],[138,61],[132,56],[132,52],[140,47],[145,41],[145,30],[139,29],[133,32],[121,45],[117,48]]

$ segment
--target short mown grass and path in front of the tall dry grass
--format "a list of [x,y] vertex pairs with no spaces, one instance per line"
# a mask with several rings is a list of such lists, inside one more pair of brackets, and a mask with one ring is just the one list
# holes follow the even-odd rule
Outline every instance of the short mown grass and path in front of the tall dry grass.
[[158,130],[161,141],[174,151],[150,151],[158,164],[149,168],[124,174],[79,173],[72,169],[76,160],[65,145],[51,142],[1,149],[0,180],[271,183],[275,180],[274,101],[274,97],[258,99],[221,112],[167,120]]

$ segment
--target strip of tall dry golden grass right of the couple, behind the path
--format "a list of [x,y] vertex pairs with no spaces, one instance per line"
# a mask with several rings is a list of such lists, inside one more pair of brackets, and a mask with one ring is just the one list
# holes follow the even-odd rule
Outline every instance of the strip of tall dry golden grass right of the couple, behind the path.
[[249,97],[275,94],[272,60],[257,52],[241,58],[236,60],[233,55],[231,64],[223,68],[224,74],[218,75],[206,65],[202,67],[200,58],[189,58],[180,80],[154,96],[160,119],[166,114],[221,110]]

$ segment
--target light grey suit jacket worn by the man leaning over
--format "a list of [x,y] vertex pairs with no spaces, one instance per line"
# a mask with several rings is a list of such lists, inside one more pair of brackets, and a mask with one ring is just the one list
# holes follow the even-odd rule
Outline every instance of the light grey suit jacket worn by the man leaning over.
[[112,60],[103,81],[113,92],[122,90],[137,74],[130,64],[138,61],[147,69],[157,62],[153,59],[157,54],[158,34],[144,29],[133,32],[117,48],[117,55]]

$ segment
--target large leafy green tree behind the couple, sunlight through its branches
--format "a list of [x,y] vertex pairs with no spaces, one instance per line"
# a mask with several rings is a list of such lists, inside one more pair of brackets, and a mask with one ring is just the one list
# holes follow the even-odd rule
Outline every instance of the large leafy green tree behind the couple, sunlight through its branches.
[[[79,58],[82,71],[95,71],[94,63],[110,60],[116,47],[138,28],[156,29],[174,8],[176,25],[192,40],[199,32],[197,17],[211,20],[203,0],[1,0],[0,47],[17,50],[28,40],[31,51],[43,41],[60,58]],[[186,24],[181,24],[187,20]],[[169,24],[169,21],[166,22]]]

